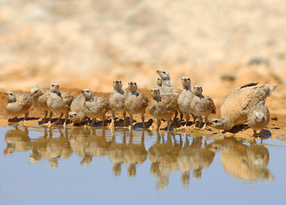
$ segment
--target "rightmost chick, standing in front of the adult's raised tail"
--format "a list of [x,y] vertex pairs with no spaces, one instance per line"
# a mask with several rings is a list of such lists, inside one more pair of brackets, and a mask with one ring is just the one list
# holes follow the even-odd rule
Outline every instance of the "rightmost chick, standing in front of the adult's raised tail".
[[253,137],[255,137],[257,130],[261,130],[260,137],[263,137],[262,130],[268,125],[269,119],[269,110],[265,105],[258,104],[249,108],[247,114],[247,125],[253,129]]

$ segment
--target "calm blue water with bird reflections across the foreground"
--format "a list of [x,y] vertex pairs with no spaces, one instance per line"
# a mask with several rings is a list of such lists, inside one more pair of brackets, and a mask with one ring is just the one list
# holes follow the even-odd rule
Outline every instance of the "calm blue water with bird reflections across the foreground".
[[0,204],[285,204],[286,142],[0,126]]

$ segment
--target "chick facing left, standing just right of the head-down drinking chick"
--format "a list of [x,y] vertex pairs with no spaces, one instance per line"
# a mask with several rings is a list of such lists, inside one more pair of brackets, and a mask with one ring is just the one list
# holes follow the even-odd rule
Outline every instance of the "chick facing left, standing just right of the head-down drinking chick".
[[90,89],[82,89],[80,92],[86,99],[83,111],[87,117],[92,118],[90,127],[93,126],[97,117],[102,117],[102,127],[104,127],[106,113],[110,109],[108,99],[102,96],[94,96]]

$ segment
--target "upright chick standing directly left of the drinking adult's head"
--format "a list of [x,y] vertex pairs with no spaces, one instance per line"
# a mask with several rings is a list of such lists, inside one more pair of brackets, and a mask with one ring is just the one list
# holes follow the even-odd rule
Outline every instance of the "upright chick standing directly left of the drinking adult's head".
[[[199,128],[203,121],[203,117],[205,118],[205,123],[202,129],[206,128],[206,122],[208,121],[208,116],[212,114],[216,114],[216,106],[214,106],[214,101],[212,98],[206,95],[202,95],[203,89],[202,86],[196,85],[194,87],[194,98],[191,101],[191,112],[194,115],[194,122],[197,117],[200,118]],[[193,123],[194,124],[194,123]]]

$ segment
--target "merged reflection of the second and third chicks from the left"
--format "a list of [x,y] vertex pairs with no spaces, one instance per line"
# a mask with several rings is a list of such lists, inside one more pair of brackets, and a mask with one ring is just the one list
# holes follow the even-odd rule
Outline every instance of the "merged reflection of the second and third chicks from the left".
[[58,129],[60,137],[52,138],[54,132],[52,127],[44,128],[44,136],[36,138],[33,142],[30,162],[38,163],[41,159],[48,160],[51,168],[58,168],[58,158],[68,158],[72,155],[70,142],[68,141],[68,130]]

